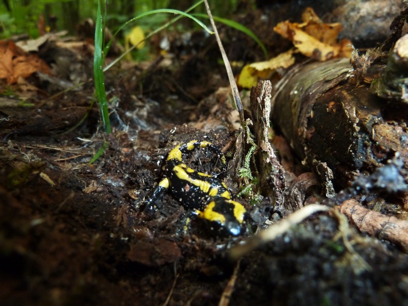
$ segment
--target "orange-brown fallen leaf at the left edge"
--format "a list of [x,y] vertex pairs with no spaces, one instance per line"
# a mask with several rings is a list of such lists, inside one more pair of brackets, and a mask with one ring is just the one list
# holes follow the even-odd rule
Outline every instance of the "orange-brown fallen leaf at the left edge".
[[14,84],[19,77],[28,78],[36,71],[49,74],[49,67],[36,54],[25,53],[13,41],[0,41],[0,79]]

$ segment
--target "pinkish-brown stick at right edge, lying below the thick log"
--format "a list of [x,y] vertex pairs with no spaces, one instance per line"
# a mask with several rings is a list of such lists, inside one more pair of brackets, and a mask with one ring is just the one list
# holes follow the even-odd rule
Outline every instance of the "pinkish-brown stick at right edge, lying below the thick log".
[[391,241],[408,251],[408,221],[364,208],[354,199],[343,202],[339,209],[361,232]]

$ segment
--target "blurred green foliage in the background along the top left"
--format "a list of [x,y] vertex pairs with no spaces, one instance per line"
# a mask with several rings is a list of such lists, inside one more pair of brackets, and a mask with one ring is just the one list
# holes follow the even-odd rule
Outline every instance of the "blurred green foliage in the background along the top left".
[[[66,5],[63,6],[63,4],[70,2],[75,4],[74,11],[70,13],[77,15],[78,20],[95,18],[95,8],[98,4],[98,0],[9,0],[8,2],[10,11],[0,3],[0,38],[9,38],[16,34],[29,34],[32,38],[38,37],[38,19],[41,14],[46,22],[49,16],[56,17],[57,31],[71,30],[70,34],[74,34],[72,32],[77,24],[73,23],[70,14],[66,11]],[[117,30],[119,25],[129,20],[135,12],[143,13],[157,8],[166,8],[169,3],[169,0],[133,2],[111,0],[107,6],[106,22],[111,30]],[[218,0],[212,0],[209,3],[214,14],[227,16],[234,11],[238,1],[228,0],[221,4]],[[203,7],[199,10],[203,11]],[[144,30],[156,29],[167,19],[165,15],[151,15],[149,18],[144,18],[138,25]],[[71,29],[67,29],[69,24],[72,24]]]

